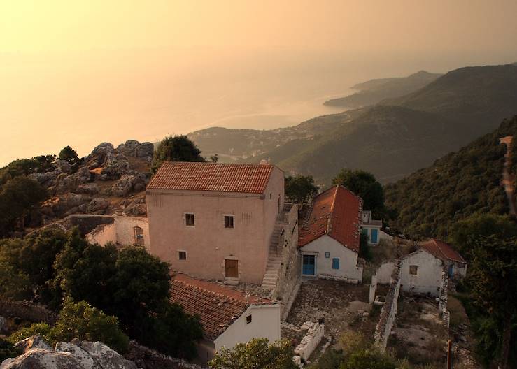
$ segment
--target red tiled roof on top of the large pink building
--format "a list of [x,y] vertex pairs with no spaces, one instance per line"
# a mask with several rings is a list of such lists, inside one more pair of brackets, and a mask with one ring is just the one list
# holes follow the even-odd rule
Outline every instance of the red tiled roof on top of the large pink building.
[[165,161],[147,188],[263,194],[273,168],[271,164]]

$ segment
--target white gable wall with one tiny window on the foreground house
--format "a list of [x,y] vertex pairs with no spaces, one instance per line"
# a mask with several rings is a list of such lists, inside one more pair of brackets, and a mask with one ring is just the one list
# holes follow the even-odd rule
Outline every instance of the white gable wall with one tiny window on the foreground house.
[[[215,351],[221,347],[232,349],[238,343],[246,343],[253,338],[267,338],[269,342],[280,340],[280,304],[251,305],[226,331],[215,339]],[[246,317],[251,314],[251,323]]]

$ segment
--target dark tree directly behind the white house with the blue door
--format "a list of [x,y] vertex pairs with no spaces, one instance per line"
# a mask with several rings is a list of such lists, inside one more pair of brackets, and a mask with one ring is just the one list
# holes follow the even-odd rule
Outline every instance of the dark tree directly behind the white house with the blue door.
[[360,169],[343,168],[332,180],[332,184],[340,184],[360,196],[364,210],[370,210],[374,217],[383,217],[385,212],[383,187],[373,174]]

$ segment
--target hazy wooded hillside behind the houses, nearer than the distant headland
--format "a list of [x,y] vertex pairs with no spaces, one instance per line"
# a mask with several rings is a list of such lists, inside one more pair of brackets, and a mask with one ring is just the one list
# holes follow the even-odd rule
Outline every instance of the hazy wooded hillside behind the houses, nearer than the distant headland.
[[393,182],[517,114],[517,66],[460,68],[378,106],[269,131],[208,129],[189,136],[222,160],[270,158],[284,171],[329,184],[342,166]]

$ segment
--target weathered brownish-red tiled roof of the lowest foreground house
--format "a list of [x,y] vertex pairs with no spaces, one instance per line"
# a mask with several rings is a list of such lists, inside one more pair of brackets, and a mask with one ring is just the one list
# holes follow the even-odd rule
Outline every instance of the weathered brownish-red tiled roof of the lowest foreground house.
[[171,302],[182,305],[189,314],[198,314],[204,336],[209,340],[218,338],[250,305],[273,303],[182,274],[173,275],[171,285]]

